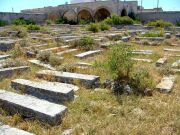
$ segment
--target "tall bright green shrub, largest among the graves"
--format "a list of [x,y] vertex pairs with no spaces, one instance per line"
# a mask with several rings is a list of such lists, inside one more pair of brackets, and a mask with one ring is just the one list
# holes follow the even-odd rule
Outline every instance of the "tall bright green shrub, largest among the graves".
[[107,69],[115,80],[129,78],[134,62],[132,58],[132,48],[125,44],[114,45],[110,48],[107,58]]

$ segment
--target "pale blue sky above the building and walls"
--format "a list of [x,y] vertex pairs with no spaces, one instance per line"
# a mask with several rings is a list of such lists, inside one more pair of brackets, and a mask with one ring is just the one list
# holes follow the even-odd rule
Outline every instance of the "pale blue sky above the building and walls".
[[[128,1],[128,0],[127,0]],[[140,4],[141,0],[138,0]],[[180,11],[180,0],[159,0],[160,6],[164,10]],[[20,12],[23,9],[38,8],[44,6],[57,6],[69,2],[70,0],[0,0],[0,12]],[[143,0],[145,8],[153,8],[157,6],[157,0]]]

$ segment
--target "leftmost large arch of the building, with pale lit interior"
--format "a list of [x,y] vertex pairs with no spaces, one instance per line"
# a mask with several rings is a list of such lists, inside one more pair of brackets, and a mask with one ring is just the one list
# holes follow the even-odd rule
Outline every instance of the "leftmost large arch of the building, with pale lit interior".
[[62,18],[67,19],[68,21],[77,21],[77,14],[74,10],[67,10],[63,13]]

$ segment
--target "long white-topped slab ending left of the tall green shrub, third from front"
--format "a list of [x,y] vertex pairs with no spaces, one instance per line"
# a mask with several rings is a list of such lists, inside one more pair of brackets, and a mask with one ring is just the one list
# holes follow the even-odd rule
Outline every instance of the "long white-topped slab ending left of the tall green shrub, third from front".
[[92,88],[96,82],[99,81],[100,77],[95,75],[86,75],[79,73],[70,73],[70,72],[59,72],[52,70],[42,70],[37,73],[37,76],[40,78],[52,77],[58,82],[64,83],[74,83],[76,81],[80,82],[87,88]]

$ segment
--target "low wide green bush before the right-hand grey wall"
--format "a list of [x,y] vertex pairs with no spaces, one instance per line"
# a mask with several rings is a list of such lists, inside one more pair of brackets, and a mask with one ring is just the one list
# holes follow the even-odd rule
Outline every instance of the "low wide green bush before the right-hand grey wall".
[[154,27],[161,27],[161,28],[173,26],[172,23],[166,22],[166,21],[163,21],[163,20],[151,21],[147,25],[148,26],[154,26]]

